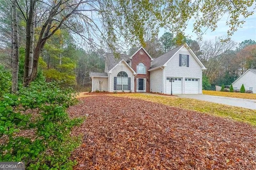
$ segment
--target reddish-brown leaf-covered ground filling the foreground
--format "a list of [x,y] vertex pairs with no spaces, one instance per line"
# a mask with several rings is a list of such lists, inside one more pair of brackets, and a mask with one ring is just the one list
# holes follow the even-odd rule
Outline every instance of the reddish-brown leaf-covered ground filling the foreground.
[[72,135],[83,144],[71,156],[84,169],[256,169],[256,128],[158,103],[91,96],[70,107],[88,115]]

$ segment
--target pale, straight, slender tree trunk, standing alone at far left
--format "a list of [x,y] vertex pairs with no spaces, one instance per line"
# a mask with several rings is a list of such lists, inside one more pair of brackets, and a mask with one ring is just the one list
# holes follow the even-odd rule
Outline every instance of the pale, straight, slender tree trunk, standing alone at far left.
[[12,3],[12,93],[18,91],[19,45],[17,26],[17,0]]

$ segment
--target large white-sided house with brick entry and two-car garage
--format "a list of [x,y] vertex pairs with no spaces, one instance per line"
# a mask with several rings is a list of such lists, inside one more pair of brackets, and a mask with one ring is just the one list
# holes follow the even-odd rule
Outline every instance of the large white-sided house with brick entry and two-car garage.
[[132,91],[202,94],[202,71],[206,69],[187,44],[152,59],[140,47],[132,56],[106,54],[105,73],[90,73],[92,91]]

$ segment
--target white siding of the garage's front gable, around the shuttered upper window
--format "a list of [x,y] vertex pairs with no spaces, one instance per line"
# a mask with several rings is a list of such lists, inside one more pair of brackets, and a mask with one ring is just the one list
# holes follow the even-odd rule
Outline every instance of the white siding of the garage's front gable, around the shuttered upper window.
[[[179,67],[179,54],[189,55],[189,67]],[[198,79],[199,88],[198,93],[202,94],[202,69],[199,63],[194,59],[192,54],[186,49],[186,47],[182,47],[176,55],[168,61],[166,67],[164,68],[164,79],[166,77],[181,77],[182,78],[182,93],[185,93],[185,78],[193,77],[193,79]],[[151,72],[150,72],[151,79]],[[166,93],[166,81],[164,81],[164,93]],[[151,83],[150,83],[151,85]]]

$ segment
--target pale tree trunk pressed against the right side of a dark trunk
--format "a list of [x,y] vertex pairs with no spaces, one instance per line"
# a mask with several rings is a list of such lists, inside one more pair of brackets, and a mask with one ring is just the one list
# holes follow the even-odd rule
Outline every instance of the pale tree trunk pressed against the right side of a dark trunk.
[[32,9],[32,24],[30,27],[30,51],[29,51],[29,63],[28,63],[28,76],[32,73],[33,68],[33,54],[34,54],[34,32],[35,32],[35,9]]

